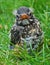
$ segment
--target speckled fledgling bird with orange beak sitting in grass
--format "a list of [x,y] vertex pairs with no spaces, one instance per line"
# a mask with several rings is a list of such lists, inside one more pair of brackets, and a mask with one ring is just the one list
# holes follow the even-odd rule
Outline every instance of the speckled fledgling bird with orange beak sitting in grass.
[[30,49],[36,50],[43,40],[43,31],[39,20],[34,16],[31,8],[25,6],[13,11],[13,14],[16,22],[10,30],[11,46],[21,44],[23,47],[24,42],[26,42],[28,51]]

